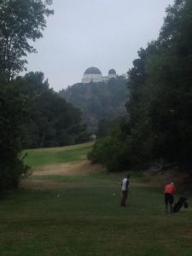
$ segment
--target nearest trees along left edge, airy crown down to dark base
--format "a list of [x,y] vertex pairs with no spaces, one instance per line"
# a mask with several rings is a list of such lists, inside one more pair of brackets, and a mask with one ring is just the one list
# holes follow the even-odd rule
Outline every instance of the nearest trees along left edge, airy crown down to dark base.
[[23,124],[31,106],[25,84],[14,80],[25,69],[26,54],[35,49],[28,43],[42,37],[51,1],[0,1],[0,190],[15,189],[26,173],[20,156]]

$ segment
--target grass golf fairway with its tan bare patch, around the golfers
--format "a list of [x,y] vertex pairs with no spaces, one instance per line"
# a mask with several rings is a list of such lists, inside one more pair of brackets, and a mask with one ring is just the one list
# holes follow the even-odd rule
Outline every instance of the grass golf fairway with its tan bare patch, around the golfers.
[[33,175],[1,199],[0,255],[191,256],[190,209],[165,215],[163,189],[136,174],[119,207],[122,174],[90,166],[90,147],[29,151]]

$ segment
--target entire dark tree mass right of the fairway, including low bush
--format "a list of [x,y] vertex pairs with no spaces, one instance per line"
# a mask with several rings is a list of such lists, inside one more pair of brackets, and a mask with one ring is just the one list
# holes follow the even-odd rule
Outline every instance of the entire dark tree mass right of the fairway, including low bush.
[[[110,171],[172,163],[191,170],[192,2],[166,9],[160,36],[140,49],[128,72],[127,119],[89,158]],[[113,158],[112,158],[113,154]]]

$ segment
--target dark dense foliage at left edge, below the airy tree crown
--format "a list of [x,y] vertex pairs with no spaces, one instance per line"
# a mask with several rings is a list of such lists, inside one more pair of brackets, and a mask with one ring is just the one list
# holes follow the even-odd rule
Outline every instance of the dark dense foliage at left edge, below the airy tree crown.
[[26,97],[14,84],[0,86],[0,190],[15,189],[27,166],[20,158],[21,124],[26,119]]

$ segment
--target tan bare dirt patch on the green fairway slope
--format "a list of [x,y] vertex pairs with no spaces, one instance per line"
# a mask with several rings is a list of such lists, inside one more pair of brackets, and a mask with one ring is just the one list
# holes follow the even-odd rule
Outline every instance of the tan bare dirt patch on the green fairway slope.
[[44,166],[40,170],[33,172],[32,175],[77,176],[77,175],[85,175],[90,172],[98,172],[98,170],[101,170],[100,165],[91,165],[88,160],[83,160],[73,164],[56,164],[56,165]]

